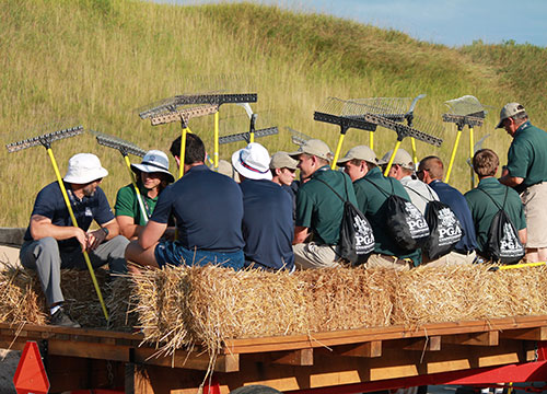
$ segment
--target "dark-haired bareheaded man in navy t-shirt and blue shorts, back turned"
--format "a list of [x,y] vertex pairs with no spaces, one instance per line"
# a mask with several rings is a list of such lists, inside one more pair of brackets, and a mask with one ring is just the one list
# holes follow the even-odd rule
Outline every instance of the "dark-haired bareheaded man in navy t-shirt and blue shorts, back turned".
[[[154,212],[138,241],[126,250],[128,260],[142,266],[207,265],[240,269],[243,255],[243,197],[240,186],[230,177],[209,170],[206,150],[198,136],[186,136],[184,163],[181,163],[181,137],[171,152],[184,176],[163,190]],[[178,239],[159,242],[175,216]]]

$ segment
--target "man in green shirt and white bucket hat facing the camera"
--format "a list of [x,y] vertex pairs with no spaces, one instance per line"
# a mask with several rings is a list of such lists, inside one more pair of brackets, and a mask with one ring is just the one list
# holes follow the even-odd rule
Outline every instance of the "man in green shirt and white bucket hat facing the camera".
[[175,178],[170,173],[167,155],[160,150],[148,151],[140,164],[131,164],[131,170],[140,197],[132,184],[124,186],[118,190],[114,210],[120,234],[136,240],[152,216],[160,193]]

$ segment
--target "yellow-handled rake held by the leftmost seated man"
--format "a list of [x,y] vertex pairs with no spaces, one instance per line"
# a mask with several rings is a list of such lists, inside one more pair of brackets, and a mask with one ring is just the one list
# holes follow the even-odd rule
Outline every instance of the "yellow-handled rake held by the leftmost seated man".
[[[47,154],[51,161],[51,165],[54,167],[55,175],[57,177],[57,183],[59,184],[59,188],[61,189],[62,197],[65,199],[65,205],[67,206],[67,209],[68,209],[69,215],[70,215],[70,219],[72,220],[72,225],[74,225],[74,227],[78,227],[78,221],[75,220],[74,212],[72,210],[72,206],[70,204],[70,199],[69,199],[69,196],[67,194],[67,189],[65,188],[65,183],[62,182],[62,177],[61,177],[61,174],[59,172],[57,161],[55,160],[54,151],[51,150],[51,142],[60,140],[60,139],[78,136],[78,135],[82,134],[83,131],[84,130],[83,130],[82,126],[74,126],[74,127],[69,127],[69,128],[56,130],[53,132],[43,134],[40,136],[24,139],[24,140],[18,141],[18,142],[8,143],[5,146],[5,148],[8,149],[8,152],[10,152],[10,153],[18,152],[20,150],[36,147],[36,146],[43,146],[46,149]],[[106,321],[108,321],[108,312],[106,311],[106,305],[104,303],[103,294],[101,293],[101,289],[98,288],[97,279],[95,277],[93,266],[91,265],[90,256],[89,256],[86,251],[82,251],[82,254],[83,254],[83,258],[85,260],[85,264],[88,266],[88,269],[90,271],[91,279],[93,281],[93,286],[95,287],[95,291],[97,293],[98,301],[101,302],[101,308],[103,309],[104,316],[105,316]]]

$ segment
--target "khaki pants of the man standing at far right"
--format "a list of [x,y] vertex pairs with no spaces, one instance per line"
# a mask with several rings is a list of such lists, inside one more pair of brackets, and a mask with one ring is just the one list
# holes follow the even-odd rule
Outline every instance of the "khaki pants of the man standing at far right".
[[[526,248],[547,247],[547,182],[529,186],[521,194],[526,217]],[[519,230],[519,229],[516,229]]]

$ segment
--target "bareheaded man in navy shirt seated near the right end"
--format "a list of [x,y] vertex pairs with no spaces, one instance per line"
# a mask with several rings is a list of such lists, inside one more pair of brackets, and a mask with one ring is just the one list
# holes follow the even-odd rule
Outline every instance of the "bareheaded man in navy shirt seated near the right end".
[[463,263],[473,263],[476,258],[477,239],[472,212],[464,195],[442,182],[444,176],[443,162],[438,157],[427,157],[421,160],[417,175],[435,190],[441,202],[446,204],[452,209],[463,227],[464,236],[456,243],[454,251],[446,258]]

